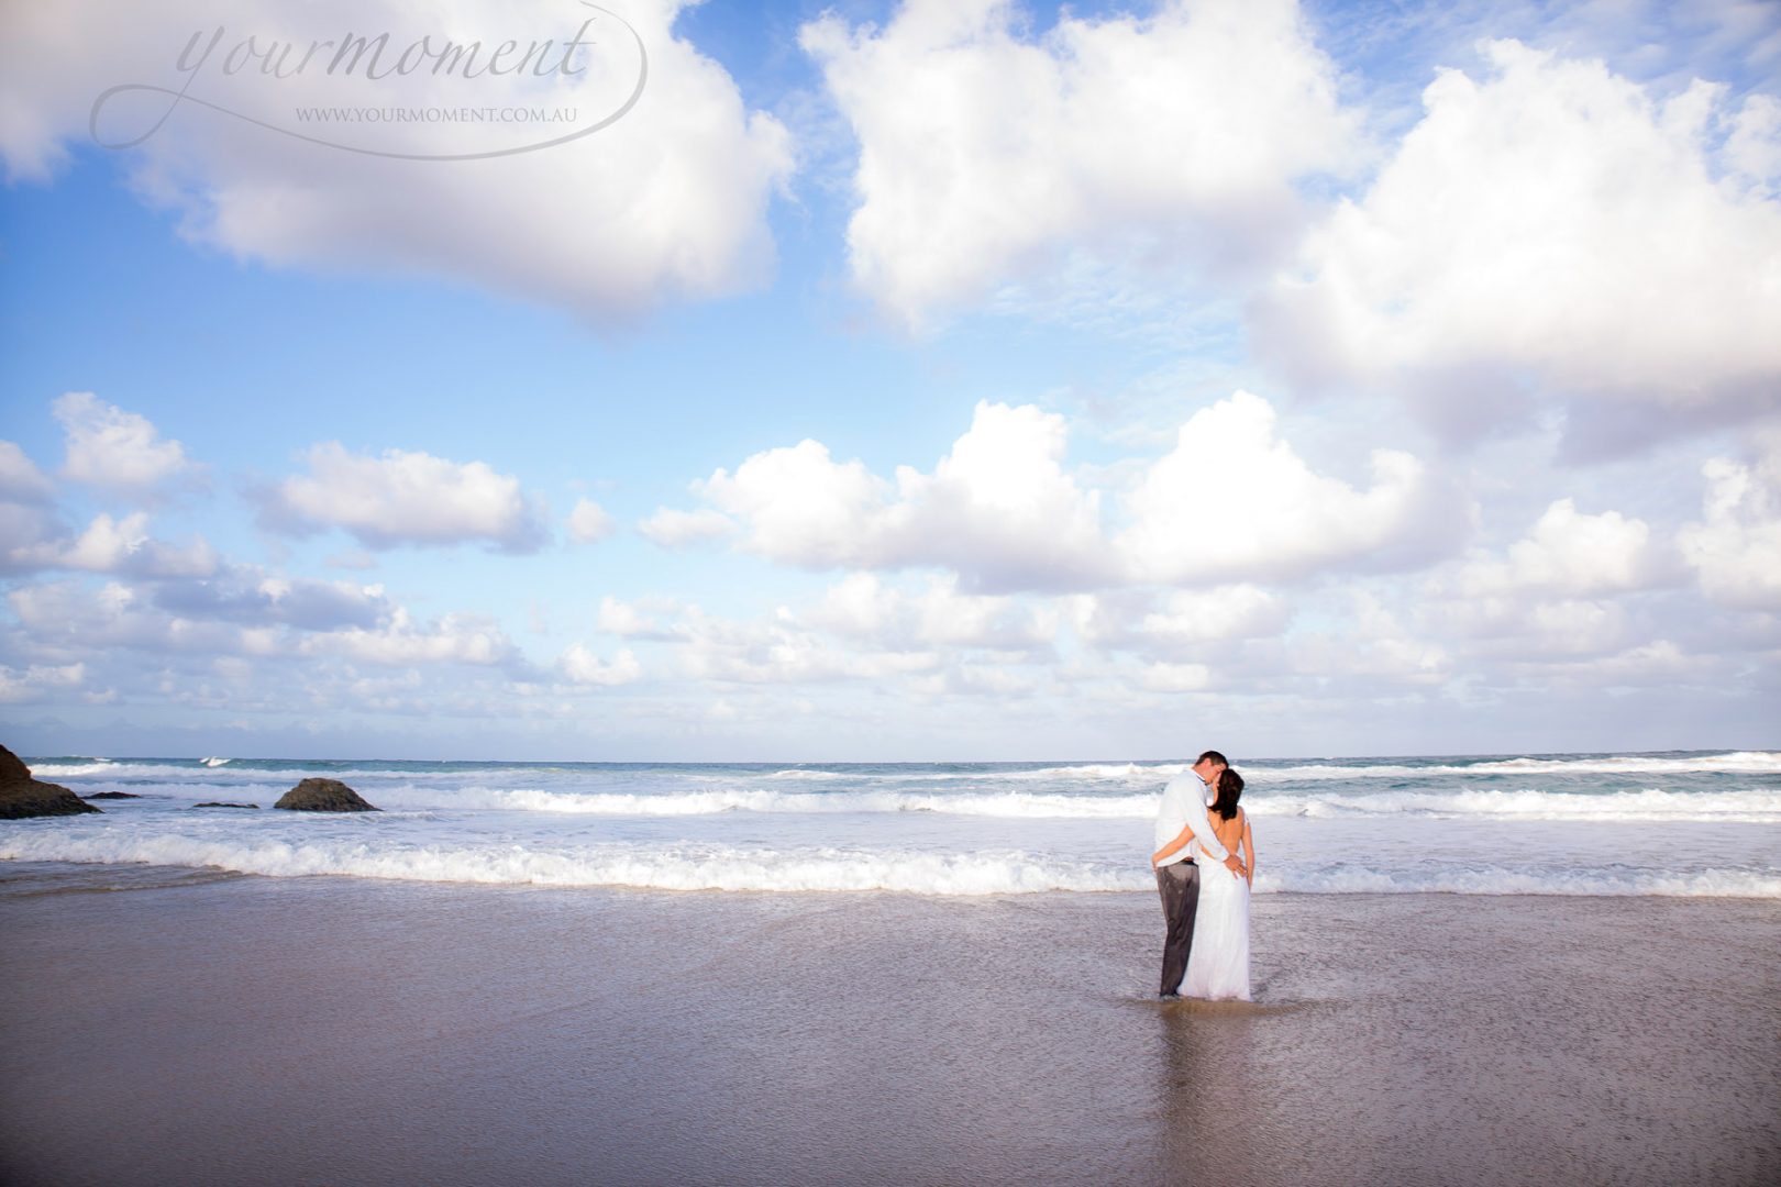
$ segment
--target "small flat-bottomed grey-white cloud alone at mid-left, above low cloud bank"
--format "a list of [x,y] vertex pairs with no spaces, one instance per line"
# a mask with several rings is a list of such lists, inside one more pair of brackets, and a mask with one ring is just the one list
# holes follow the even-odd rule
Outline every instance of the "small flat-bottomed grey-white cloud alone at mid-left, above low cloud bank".
[[310,448],[306,461],[308,473],[262,493],[265,527],[297,534],[338,527],[367,548],[481,541],[534,552],[545,539],[520,480],[488,463],[401,448],[370,457],[338,441]]

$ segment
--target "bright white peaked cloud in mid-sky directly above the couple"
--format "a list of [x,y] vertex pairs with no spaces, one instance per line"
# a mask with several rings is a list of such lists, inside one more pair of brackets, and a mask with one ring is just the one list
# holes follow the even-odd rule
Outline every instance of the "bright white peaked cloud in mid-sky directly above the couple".
[[1247,392],[1202,409],[1127,498],[1117,539],[1140,580],[1213,584],[1403,568],[1455,545],[1462,509],[1412,456],[1373,450],[1373,486],[1320,475]]

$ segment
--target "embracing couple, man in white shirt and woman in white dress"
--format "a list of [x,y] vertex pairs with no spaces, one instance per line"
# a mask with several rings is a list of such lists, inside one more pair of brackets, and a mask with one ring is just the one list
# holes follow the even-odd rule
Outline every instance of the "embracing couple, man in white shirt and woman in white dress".
[[1248,890],[1256,881],[1256,838],[1248,813],[1236,806],[1241,795],[1243,776],[1218,751],[1200,755],[1163,788],[1151,865],[1168,920],[1165,998],[1250,1000]]

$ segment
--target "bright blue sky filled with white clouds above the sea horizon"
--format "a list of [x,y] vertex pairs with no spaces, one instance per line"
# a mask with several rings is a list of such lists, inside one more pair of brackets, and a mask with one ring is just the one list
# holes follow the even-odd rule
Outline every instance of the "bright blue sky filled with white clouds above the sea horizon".
[[1781,746],[1781,5],[0,21],[18,753]]

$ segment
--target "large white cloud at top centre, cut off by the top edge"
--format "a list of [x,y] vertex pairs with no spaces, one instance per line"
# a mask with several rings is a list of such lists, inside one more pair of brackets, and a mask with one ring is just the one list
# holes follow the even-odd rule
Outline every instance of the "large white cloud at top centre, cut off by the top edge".
[[853,279],[912,326],[1083,258],[1229,265],[1300,221],[1354,121],[1293,0],[1065,12],[1033,41],[1010,0],[910,0],[883,28],[828,14],[800,44],[858,141]]

